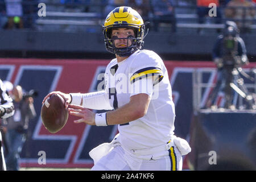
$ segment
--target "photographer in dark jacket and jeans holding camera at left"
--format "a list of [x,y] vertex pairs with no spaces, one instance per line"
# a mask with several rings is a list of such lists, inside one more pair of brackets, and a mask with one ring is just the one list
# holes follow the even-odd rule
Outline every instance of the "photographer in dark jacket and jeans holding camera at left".
[[29,94],[23,94],[21,86],[14,86],[10,96],[13,98],[15,113],[4,121],[7,127],[6,143],[8,147],[6,167],[10,171],[18,171],[19,154],[26,141],[28,122],[36,117],[36,112],[33,104],[34,98]]

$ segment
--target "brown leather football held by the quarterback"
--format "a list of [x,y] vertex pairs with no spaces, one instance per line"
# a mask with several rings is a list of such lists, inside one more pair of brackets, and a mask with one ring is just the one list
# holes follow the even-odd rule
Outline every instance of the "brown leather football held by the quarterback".
[[41,109],[41,118],[50,133],[60,131],[68,121],[68,109],[65,108],[63,97],[52,94],[47,98]]

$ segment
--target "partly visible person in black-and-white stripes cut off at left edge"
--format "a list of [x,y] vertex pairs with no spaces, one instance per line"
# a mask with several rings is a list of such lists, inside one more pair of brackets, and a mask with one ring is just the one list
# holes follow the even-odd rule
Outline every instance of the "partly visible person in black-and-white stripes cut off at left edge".
[[[8,118],[14,114],[13,100],[6,92],[6,88],[0,79],[0,118]],[[2,135],[0,132],[0,171],[6,171],[5,158],[3,156]]]

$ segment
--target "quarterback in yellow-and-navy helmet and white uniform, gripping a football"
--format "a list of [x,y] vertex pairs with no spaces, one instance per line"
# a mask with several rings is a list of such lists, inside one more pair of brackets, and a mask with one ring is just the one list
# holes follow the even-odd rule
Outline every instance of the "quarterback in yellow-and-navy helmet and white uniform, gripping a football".
[[[69,114],[79,117],[75,123],[118,125],[119,134],[111,143],[90,151],[92,170],[181,170],[181,155],[190,147],[174,135],[175,106],[163,60],[142,49],[143,19],[130,7],[117,7],[106,17],[102,31],[106,49],[116,57],[106,67],[105,90],[52,92],[43,102],[59,93]],[[89,109],[110,111],[95,114]]]

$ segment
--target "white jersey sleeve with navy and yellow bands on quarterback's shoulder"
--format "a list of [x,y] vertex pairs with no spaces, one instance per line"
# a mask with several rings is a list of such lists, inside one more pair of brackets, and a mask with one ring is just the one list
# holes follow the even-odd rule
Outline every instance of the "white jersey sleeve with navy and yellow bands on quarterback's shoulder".
[[153,51],[142,51],[131,64],[130,83],[154,76],[154,85],[163,79],[163,60]]

